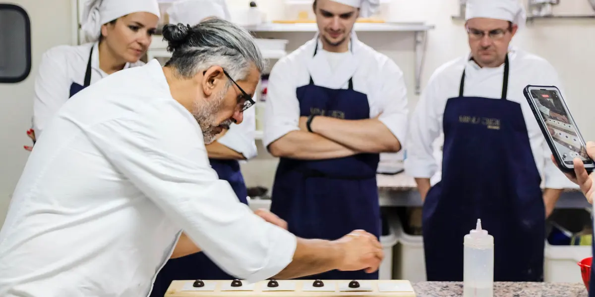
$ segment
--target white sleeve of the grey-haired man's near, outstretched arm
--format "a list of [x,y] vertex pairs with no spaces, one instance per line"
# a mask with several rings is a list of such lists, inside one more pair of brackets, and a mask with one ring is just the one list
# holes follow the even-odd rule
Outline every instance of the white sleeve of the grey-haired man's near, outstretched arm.
[[297,239],[239,203],[209,165],[196,121],[177,106],[114,119],[87,135],[218,266],[248,282],[275,276]]

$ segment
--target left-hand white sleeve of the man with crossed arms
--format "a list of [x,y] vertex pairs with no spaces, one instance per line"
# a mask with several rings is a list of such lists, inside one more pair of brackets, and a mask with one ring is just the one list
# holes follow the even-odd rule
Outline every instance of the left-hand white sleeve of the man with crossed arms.
[[299,101],[296,86],[286,65],[275,64],[267,86],[263,144],[269,144],[283,135],[299,130]]

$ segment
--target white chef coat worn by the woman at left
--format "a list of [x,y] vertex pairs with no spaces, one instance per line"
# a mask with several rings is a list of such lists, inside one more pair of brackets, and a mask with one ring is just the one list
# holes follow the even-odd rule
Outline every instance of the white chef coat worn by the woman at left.
[[[91,81],[96,83],[108,74],[99,68],[99,43],[84,43],[83,45],[55,46],[43,53],[39,64],[39,71],[35,78],[35,95],[33,97],[33,130],[39,139],[40,135],[52,116],[68,100],[72,83],[84,84],[84,74],[87,70],[89,53],[91,56]],[[145,63],[137,61],[126,63],[124,69],[142,66]]]

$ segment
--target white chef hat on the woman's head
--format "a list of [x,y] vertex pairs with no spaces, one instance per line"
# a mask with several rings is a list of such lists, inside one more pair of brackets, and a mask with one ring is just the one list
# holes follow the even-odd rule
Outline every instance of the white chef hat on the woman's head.
[[99,40],[104,24],[134,12],[149,12],[161,17],[157,0],[87,0],[81,26],[87,42]]

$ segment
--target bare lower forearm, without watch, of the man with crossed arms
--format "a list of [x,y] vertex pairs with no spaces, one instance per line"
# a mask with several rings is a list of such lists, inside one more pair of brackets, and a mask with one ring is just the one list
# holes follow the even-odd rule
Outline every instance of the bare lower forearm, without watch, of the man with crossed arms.
[[291,131],[268,147],[275,157],[318,160],[352,156],[355,151],[310,132]]

